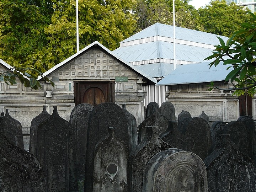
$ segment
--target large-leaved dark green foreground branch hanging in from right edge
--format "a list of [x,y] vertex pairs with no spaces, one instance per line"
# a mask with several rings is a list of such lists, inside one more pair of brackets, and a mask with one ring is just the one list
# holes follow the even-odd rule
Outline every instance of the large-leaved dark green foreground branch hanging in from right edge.
[[213,54],[204,60],[214,58],[210,67],[217,66],[220,62],[233,68],[226,76],[225,81],[231,82],[232,88],[222,89],[211,82],[209,90],[235,91],[235,95],[245,92],[253,96],[256,93],[256,15],[249,12],[252,19],[241,24],[241,30],[236,31],[225,43],[222,38],[220,44],[214,46]]

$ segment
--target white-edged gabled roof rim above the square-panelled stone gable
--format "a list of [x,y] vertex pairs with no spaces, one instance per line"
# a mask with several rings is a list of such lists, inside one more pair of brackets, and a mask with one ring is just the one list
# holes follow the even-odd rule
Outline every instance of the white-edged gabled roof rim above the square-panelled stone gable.
[[[129,69],[131,69],[132,71],[134,71],[135,73],[143,76],[148,82],[147,84],[156,84],[156,80],[154,80],[153,78],[151,78],[150,76],[148,76],[147,74],[145,74],[144,72],[138,70],[137,68],[135,68],[134,66],[130,65],[128,62],[126,62],[124,59],[120,58],[118,55],[114,54],[111,50],[109,50],[108,48],[106,48],[105,46],[103,46],[102,44],[100,44],[99,42],[95,41],[94,43],[91,43],[89,46],[85,47],[84,49],[81,49],[78,53],[72,55],[71,57],[65,59],[63,62],[55,65],[53,68],[49,69],[48,71],[46,71],[45,73],[43,73],[43,76],[47,76],[50,75],[51,73],[53,73],[55,70],[58,70],[60,68],[62,68],[65,64],[68,64],[71,60],[76,59],[78,57],[80,57],[82,54],[84,54],[84,52],[86,52],[87,50],[89,50],[90,48],[98,48],[101,49],[102,51],[108,53],[109,55],[111,55],[113,58],[117,59],[119,62],[121,62],[124,66],[128,67]],[[37,80],[42,79],[41,76],[38,76]]]

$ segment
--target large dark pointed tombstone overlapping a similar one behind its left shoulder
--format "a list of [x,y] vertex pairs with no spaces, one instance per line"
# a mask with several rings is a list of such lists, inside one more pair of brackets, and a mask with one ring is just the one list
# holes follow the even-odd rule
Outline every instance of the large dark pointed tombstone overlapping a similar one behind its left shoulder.
[[49,119],[38,126],[36,155],[42,162],[47,191],[77,191],[72,126],[61,118],[57,106]]

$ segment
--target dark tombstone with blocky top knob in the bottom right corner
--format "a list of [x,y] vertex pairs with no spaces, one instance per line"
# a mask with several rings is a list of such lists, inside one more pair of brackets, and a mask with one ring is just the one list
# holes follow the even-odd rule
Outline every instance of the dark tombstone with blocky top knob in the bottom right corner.
[[256,191],[256,169],[252,160],[231,145],[229,135],[217,137],[217,145],[204,160],[208,191]]

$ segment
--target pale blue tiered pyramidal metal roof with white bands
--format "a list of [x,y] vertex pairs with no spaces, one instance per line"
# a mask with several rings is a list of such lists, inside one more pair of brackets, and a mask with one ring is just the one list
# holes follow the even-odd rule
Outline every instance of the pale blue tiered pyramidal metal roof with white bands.
[[[171,25],[155,23],[120,42],[120,47],[113,52],[153,78],[164,77],[174,70],[173,29]],[[205,62],[219,44],[217,37],[228,40],[216,34],[175,27],[176,64]],[[152,70],[154,64],[162,67]]]

